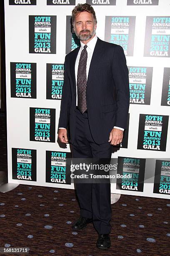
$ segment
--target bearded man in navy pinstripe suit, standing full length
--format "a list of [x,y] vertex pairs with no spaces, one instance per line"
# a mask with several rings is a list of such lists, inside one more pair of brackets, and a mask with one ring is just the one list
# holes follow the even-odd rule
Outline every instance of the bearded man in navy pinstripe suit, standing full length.
[[[95,35],[97,20],[89,4],[72,10],[72,25],[81,46],[65,56],[58,138],[68,143],[73,158],[111,159],[112,145],[122,142],[129,109],[128,67],[121,46]],[[88,223],[98,233],[97,248],[110,247],[110,183],[76,183],[80,218],[73,229]]]

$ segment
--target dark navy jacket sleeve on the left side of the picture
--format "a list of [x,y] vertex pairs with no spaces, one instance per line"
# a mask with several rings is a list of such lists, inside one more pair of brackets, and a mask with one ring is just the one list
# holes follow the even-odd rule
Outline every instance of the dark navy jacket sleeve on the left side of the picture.
[[64,71],[64,82],[62,85],[62,98],[60,105],[60,117],[58,121],[58,128],[65,127],[69,123],[70,116],[70,103],[71,103],[71,89],[70,89],[70,79],[67,75],[67,55],[65,56],[65,71]]

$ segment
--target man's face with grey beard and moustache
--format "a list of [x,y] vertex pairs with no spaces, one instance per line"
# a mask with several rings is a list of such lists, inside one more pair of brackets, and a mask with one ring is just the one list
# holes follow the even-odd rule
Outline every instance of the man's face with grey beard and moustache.
[[86,11],[78,13],[75,17],[74,31],[78,39],[87,41],[95,34],[96,24],[92,13]]

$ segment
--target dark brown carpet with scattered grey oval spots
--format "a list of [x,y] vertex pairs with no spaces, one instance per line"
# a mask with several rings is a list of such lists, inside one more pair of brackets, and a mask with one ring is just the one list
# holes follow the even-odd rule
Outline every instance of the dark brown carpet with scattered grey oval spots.
[[[3,115],[0,124],[0,171],[7,171]],[[0,193],[0,247],[28,247],[37,256],[170,255],[169,200],[121,195],[112,205],[112,245],[104,251],[92,223],[72,231],[79,214],[72,189],[19,185]]]

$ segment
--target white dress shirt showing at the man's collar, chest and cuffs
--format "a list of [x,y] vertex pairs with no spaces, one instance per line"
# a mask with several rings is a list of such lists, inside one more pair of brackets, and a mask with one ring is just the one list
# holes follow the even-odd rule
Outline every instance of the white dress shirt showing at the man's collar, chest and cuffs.
[[[88,77],[90,62],[91,62],[91,59],[92,59],[92,54],[93,54],[93,51],[95,49],[96,42],[97,42],[97,36],[95,35],[87,43],[87,48],[86,48],[86,50],[87,50],[87,66],[86,66],[87,77]],[[80,50],[77,54],[77,59],[75,61],[75,82],[76,82],[76,85],[77,85],[77,71],[78,71],[78,64],[79,64],[79,60],[80,60],[80,54],[81,54],[81,51],[84,49],[84,46],[85,46],[85,44],[83,44],[82,41],[80,41],[80,44],[81,44],[81,47],[80,47]],[[76,106],[77,106],[77,86],[76,86]],[[120,129],[120,130],[124,131],[123,128],[120,128],[120,127],[117,127],[117,126],[114,126],[113,128],[117,128],[117,129]],[[59,129],[64,129],[64,128],[60,127]]]

